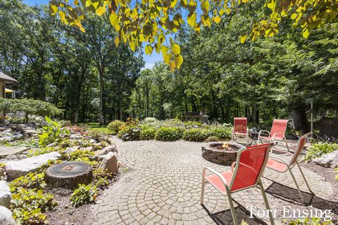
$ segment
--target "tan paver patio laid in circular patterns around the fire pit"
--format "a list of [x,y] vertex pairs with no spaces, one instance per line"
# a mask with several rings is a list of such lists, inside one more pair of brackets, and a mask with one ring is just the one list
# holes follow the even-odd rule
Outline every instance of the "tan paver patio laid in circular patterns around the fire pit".
[[[130,172],[104,191],[93,206],[98,224],[232,224],[227,199],[210,184],[206,185],[205,207],[199,204],[202,169],[211,167],[219,172],[230,170],[230,167],[204,160],[201,157],[202,143],[114,141],[118,146],[118,160],[130,167]],[[295,168],[293,171],[301,190],[305,192],[306,200],[310,202],[311,195],[306,194],[308,191],[299,170]],[[330,201],[326,200],[332,194],[330,184],[308,169],[303,171],[315,193],[311,201],[313,208],[323,205],[323,201],[330,206]],[[268,188],[267,195],[272,209],[281,210],[282,205],[294,206],[294,203],[297,204],[296,209],[306,207],[301,204],[289,174],[265,169],[265,177],[269,178],[264,178],[263,184],[265,189]],[[234,193],[232,198],[236,201],[235,207],[239,206],[239,221],[244,218],[250,225],[269,224],[267,218],[249,219],[247,215],[249,212],[246,207],[264,209],[258,188]],[[257,216],[257,210],[253,210],[253,214]],[[280,217],[279,213],[277,216]],[[276,224],[281,221],[276,221]]]

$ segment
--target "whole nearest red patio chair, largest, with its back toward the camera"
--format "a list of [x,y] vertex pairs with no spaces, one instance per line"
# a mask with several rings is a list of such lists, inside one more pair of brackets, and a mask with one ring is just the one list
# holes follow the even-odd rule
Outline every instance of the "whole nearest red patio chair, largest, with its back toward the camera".
[[[232,219],[234,225],[237,225],[239,223],[232,203],[231,193],[259,186],[263,195],[265,207],[269,210],[270,222],[271,224],[275,224],[272,214],[270,213],[268,198],[266,198],[261,182],[261,176],[265,165],[268,162],[268,155],[272,145],[273,143],[268,143],[242,148],[237,154],[237,161],[232,163],[231,172],[223,172],[220,174],[214,169],[204,168],[202,174],[201,204],[203,205],[204,200],[204,186],[206,183],[210,183],[222,195],[227,195]],[[206,176],[206,170],[210,171],[212,175]]]

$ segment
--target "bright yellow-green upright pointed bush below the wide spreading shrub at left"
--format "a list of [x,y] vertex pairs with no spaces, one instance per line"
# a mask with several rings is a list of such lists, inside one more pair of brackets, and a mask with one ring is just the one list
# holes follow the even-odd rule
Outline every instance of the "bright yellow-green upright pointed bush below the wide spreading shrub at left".
[[60,142],[65,136],[69,135],[69,130],[62,127],[55,121],[52,121],[49,117],[45,117],[47,124],[42,127],[42,134],[39,134],[39,145],[46,146],[49,143]]

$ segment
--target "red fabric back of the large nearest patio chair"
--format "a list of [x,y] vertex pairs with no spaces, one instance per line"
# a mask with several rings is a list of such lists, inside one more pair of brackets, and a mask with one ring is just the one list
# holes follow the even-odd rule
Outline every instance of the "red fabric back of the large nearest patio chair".
[[230,191],[239,191],[258,184],[266,162],[268,162],[272,146],[273,143],[267,143],[259,146],[247,146],[239,150],[230,183]]

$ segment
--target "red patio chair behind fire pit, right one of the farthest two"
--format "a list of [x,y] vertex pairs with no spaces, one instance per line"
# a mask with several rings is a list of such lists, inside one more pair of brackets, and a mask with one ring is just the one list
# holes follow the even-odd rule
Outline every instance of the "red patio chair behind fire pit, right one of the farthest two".
[[[287,145],[287,139],[285,137],[285,131],[287,130],[287,122],[289,122],[289,120],[280,120],[280,119],[273,120],[273,127],[271,127],[270,132],[267,130],[259,131],[257,143],[259,144],[259,141],[263,143],[262,139],[272,143],[284,140],[285,145],[287,146],[287,150],[289,150],[289,146]],[[268,136],[263,136],[262,134],[264,133],[265,135],[268,134]]]

